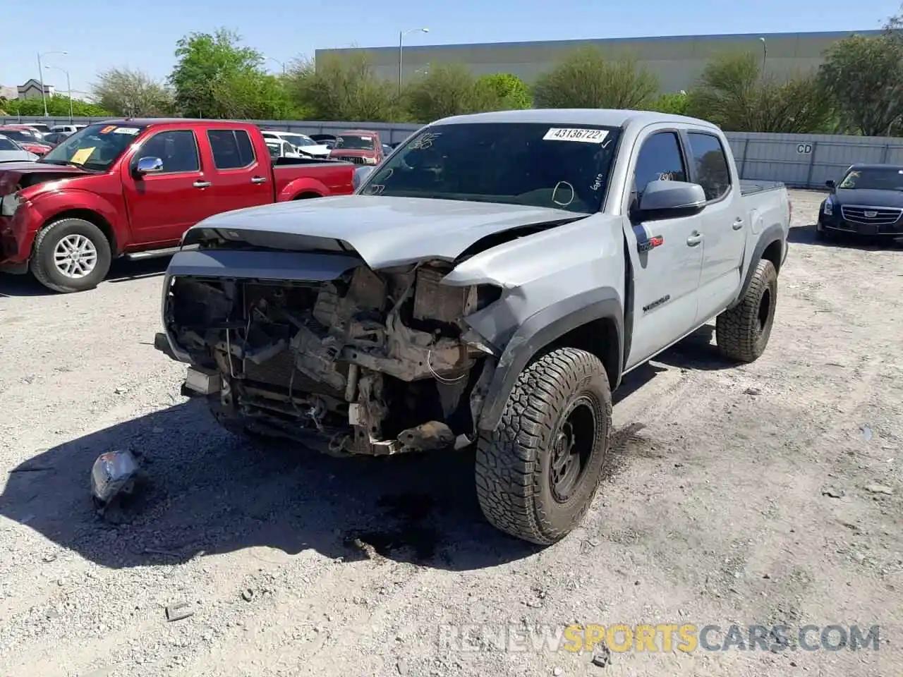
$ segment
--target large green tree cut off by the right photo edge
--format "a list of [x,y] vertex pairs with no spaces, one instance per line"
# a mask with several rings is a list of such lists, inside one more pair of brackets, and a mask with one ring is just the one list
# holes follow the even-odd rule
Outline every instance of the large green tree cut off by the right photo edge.
[[835,42],[824,52],[818,83],[844,131],[903,134],[903,19],[890,17],[882,35]]

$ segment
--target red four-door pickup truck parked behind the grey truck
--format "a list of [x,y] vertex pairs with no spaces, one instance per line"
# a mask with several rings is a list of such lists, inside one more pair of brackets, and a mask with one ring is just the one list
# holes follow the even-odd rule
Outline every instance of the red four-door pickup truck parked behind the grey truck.
[[89,125],[38,162],[0,165],[0,272],[55,292],[97,286],[116,256],[178,249],[203,218],[353,192],[351,162],[271,161],[255,125],[125,119]]

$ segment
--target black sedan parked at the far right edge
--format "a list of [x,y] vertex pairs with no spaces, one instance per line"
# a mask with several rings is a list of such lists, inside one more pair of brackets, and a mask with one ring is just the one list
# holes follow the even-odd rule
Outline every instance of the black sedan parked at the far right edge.
[[826,184],[831,194],[818,209],[819,237],[903,236],[903,165],[854,164],[840,183]]

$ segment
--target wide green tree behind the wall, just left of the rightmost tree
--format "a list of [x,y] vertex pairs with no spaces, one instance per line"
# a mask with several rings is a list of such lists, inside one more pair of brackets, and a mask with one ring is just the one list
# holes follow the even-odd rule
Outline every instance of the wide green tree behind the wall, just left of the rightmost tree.
[[758,55],[729,52],[705,65],[690,90],[687,113],[728,132],[826,132],[833,123],[833,107],[819,91],[815,77],[765,77]]

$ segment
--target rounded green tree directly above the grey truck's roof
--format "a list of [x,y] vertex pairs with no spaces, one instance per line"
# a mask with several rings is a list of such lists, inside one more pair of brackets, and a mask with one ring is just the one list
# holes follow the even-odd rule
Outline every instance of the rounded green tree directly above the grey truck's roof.
[[539,108],[647,107],[658,91],[656,76],[632,57],[606,60],[598,47],[573,51],[536,81]]

